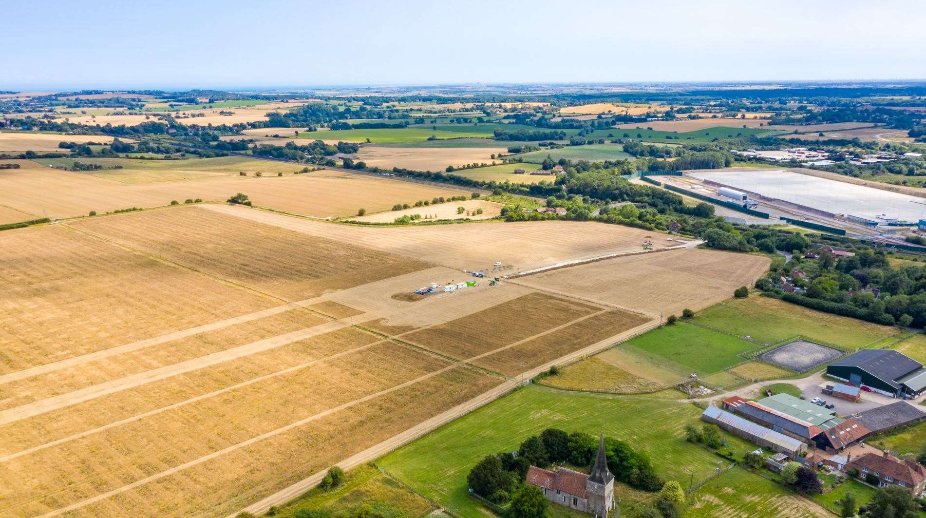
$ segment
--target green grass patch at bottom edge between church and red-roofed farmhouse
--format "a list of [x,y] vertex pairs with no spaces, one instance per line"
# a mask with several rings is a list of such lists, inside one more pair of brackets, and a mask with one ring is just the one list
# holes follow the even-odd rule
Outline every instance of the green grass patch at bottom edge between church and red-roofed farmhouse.
[[685,518],[716,516],[776,516],[815,518],[828,516],[814,502],[777,482],[733,468],[710,480],[689,499]]

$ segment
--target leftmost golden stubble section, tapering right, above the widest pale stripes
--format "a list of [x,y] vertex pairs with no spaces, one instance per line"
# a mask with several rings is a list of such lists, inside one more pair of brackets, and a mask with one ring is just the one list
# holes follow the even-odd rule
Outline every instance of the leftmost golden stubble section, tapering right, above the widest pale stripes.
[[61,226],[0,248],[0,373],[279,304]]

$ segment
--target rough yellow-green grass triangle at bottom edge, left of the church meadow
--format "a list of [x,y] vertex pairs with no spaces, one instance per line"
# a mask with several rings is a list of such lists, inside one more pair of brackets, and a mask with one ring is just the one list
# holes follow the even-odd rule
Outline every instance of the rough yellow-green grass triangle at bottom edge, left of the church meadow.
[[326,491],[319,487],[309,490],[298,499],[276,508],[275,516],[289,518],[305,516],[305,512],[356,512],[369,509],[382,518],[418,518],[434,507],[431,502],[364,464],[345,475],[344,483]]

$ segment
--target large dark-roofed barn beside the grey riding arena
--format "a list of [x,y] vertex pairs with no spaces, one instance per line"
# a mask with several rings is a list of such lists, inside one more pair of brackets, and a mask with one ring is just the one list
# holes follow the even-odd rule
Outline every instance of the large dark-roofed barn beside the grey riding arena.
[[860,350],[833,361],[826,373],[886,396],[913,398],[926,390],[926,369],[922,363],[892,349]]

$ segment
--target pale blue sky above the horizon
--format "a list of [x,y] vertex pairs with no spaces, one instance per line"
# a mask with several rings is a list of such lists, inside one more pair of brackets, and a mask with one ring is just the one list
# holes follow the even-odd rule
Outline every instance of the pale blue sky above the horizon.
[[3,0],[0,90],[926,79],[926,1]]

